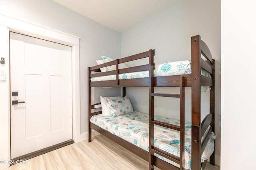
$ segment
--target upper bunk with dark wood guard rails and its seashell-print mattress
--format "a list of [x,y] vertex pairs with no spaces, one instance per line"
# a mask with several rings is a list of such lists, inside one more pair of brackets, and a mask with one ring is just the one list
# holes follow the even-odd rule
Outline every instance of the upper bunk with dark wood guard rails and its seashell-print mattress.
[[[155,66],[154,52],[150,49],[143,53],[88,67],[88,86],[146,87],[151,86],[150,78],[153,78],[153,86],[178,87],[180,86],[181,76],[184,79],[184,86],[187,87],[193,86],[193,83],[199,86],[213,86],[214,59],[212,59],[210,50],[206,43],[201,40],[200,35],[191,37],[191,60],[163,63]],[[145,58],[148,59],[149,64],[132,67],[122,66],[127,62]],[[176,64],[175,66],[182,67],[182,69],[178,69],[179,71],[174,73],[170,69],[172,64]],[[186,67],[183,67],[184,65]],[[105,69],[107,71],[101,72],[102,68],[112,69]],[[180,72],[180,70],[184,70],[184,72]]]

